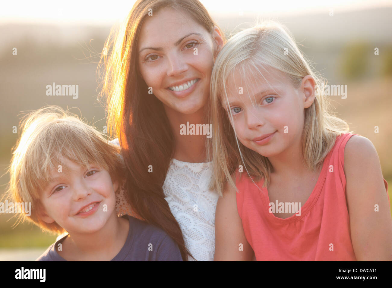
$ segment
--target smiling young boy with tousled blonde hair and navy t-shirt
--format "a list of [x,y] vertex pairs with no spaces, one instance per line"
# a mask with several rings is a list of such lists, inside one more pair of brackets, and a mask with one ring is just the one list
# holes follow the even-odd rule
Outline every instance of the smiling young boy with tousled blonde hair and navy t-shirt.
[[119,150],[60,107],[28,115],[14,151],[8,193],[31,203],[33,221],[68,234],[37,261],[182,261],[163,230],[134,217],[117,217],[124,165]]

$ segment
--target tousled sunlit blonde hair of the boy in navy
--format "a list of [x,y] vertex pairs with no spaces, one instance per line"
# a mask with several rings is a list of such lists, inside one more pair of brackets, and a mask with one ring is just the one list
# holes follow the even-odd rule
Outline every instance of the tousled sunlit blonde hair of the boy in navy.
[[62,165],[65,173],[69,170],[62,159],[83,167],[97,163],[120,187],[124,168],[120,148],[76,115],[58,106],[48,106],[25,116],[20,127],[22,134],[13,151],[5,194],[16,203],[31,203],[31,216],[22,213],[20,220],[27,219],[54,233],[65,232],[56,222],[45,223],[39,217],[40,191],[47,187],[51,172],[58,171],[58,165]]

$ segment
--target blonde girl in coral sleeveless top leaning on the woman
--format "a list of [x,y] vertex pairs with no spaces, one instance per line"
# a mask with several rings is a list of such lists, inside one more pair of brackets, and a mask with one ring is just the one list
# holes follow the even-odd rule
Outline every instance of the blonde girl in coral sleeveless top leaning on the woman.
[[285,28],[233,36],[211,79],[214,259],[391,260],[377,152],[328,112]]

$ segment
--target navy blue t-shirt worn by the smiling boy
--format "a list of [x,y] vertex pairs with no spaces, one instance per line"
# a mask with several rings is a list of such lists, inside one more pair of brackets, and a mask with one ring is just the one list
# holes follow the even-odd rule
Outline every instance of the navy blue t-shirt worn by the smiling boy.
[[[127,241],[111,261],[182,261],[177,244],[162,229],[129,215],[122,217],[129,219]],[[66,237],[49,246],[36,261],[67,261],[55,248]]]

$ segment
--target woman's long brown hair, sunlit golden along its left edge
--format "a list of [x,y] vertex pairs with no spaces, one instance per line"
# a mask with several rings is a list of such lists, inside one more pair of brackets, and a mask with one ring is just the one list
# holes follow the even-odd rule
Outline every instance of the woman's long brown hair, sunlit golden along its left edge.
[[[122,148],[132,208],[147,223],[164,230],[176,242],[186,261],[187,255],[192,255],[185,247],[180,225],[162,189],[174,155],[174,135],[162,102],[148,94],[136,60],[143,21],[149,11],[156,13],[162,7],[184,11],[211,34],[216,25],[198,0],[137,1],[125,25],[112,29],[105,42],[99,65],[103,64],[105,69],[101,96],[107,98],[109,134],[117,135]],[[222,31],[221,35],[225,41]]]

